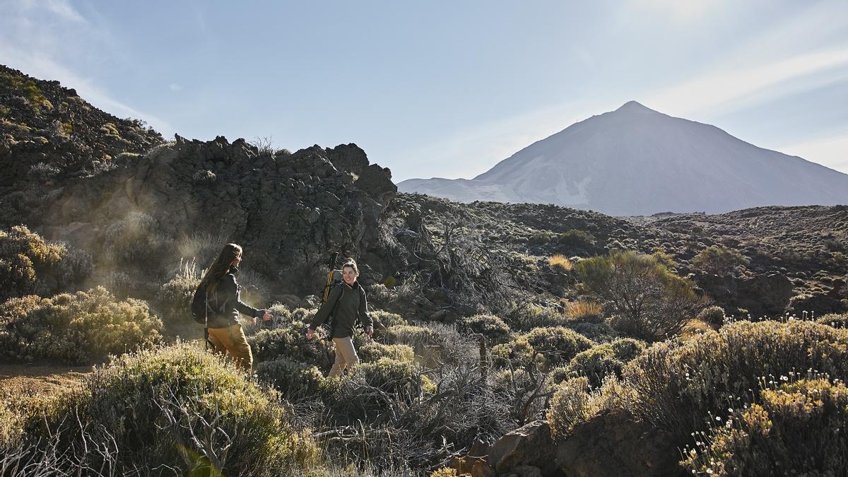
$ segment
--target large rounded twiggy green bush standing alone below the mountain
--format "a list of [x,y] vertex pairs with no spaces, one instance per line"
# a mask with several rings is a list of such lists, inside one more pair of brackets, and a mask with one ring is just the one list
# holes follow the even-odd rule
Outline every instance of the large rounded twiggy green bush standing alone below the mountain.
[[662,340],[679,334],[703,300],[689,280],[669,272],[651,255],[613,251],[575,267],[583,292],[608,308],[622,334]]

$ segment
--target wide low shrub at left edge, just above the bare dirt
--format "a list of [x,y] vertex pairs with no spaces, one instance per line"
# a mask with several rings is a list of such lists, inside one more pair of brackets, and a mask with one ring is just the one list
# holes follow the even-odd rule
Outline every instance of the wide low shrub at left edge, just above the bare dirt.
[[73,295],[29,295],[0,305],[0,350],[14,360],[81,363],[161,339],[162,321],[144,301],[115,300],[98,287]]

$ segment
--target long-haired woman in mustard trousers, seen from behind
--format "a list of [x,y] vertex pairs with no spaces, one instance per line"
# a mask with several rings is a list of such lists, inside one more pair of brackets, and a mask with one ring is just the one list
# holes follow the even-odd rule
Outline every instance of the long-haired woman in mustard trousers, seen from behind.
[[236,366],[250,373],[254,366],[254,355],[242,325],[238,323],[238,312],[253,317],[254,325],[258,317],[264,321],[270,320],[271,313],[245,305],[239,297],[242,287],[236,282],[236,273],[241,262],[242,247],[237,244],[224,245],[200,281],[199,288],[206,290],[209,308],[214,311],[209,312],[207,326],[209,341],[215,353],[226,355],[229,352]]

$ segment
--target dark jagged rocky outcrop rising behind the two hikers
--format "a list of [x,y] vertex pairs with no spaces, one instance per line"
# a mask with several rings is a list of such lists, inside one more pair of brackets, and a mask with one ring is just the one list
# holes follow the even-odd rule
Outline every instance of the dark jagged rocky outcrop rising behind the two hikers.
[[[27,223],[48,239],[103,250],[114,224],[142,215],[175,248],[192,237],[217,238],[216,247],[237,241],[245,266],[275,283],[271,291],[308,295],[328,250],[359,256],[377,247],[373,231],[394,191],[390,172],[355,144],[274,155],[243,139],[177,136],[95,177],[65,180]],[[214,256],[197,258],[205,265]]]

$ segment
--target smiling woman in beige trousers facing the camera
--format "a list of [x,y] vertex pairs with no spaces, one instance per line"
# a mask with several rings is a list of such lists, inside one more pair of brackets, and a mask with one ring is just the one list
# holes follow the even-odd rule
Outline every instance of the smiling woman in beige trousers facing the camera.
[[356,262],[349,258],[342,266],[343,283],[338,283],[330,290],[327,300],[315,313],[312,324],[306,332],[307,340],[312,339],[315,328],[326,322],[332,315],[332,344],[336,346],[336,361],[332,364],[327,378],[338,376],[345,368],[353,368],[360,362],[354,349],[354,326],[357,321],[362,323],[368,336],[374,334],[374,321],[368,315],[368,302],[365,300],[365,289],[356,278],[360,270]]

